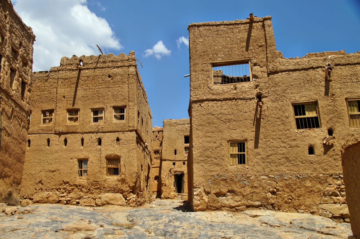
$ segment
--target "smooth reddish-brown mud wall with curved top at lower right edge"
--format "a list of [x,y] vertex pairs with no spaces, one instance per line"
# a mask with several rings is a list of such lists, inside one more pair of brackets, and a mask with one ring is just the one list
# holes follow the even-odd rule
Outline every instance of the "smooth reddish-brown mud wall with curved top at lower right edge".
[[350,212],[352,235],[360,236],[360,187],[358,175],[360,174],[360,136],[357,134],[343,145],[341,152],[344,181],[347,193],[347,205]]

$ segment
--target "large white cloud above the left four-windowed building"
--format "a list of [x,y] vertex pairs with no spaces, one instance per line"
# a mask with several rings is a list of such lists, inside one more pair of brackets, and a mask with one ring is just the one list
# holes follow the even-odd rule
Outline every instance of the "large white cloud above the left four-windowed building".
[[14,9],[32,27],[33,71],[48,71],[72,55],[99,55],[123,46],[108,22],[87,8],[86,0],[15,0]]

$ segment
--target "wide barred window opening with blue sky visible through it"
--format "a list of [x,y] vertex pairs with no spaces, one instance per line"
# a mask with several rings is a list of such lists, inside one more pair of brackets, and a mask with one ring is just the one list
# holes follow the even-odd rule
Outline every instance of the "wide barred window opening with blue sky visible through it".
[[249,61],[212,63],[214,85],[251,81]]

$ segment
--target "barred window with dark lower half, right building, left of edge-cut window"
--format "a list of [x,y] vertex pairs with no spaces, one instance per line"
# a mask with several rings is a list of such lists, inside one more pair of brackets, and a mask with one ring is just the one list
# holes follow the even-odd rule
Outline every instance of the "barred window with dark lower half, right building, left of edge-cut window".
[[318,105],[316,103],[294,104],[293,108],[298,130],[320,128]]

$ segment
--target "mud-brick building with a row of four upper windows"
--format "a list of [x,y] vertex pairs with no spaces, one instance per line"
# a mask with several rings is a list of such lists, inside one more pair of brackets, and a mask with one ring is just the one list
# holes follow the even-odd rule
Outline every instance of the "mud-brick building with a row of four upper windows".
[[152,114],[134,51],[63,57],[33,76],[24,204],[148,201]]

